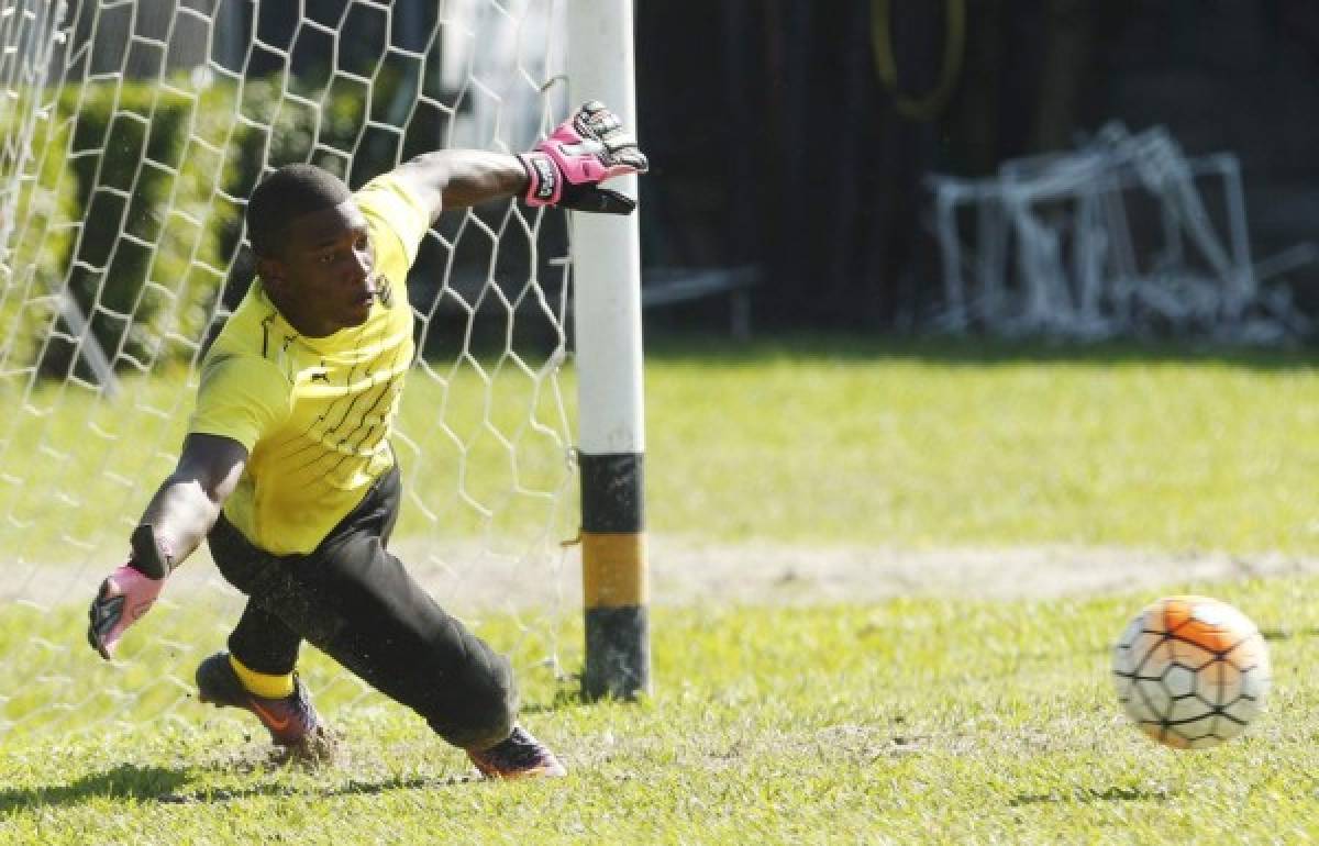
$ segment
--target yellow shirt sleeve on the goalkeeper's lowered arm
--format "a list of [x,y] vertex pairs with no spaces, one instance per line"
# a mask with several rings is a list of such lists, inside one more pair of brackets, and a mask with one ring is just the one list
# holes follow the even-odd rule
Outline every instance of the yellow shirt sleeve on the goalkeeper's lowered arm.
[[289,381],[274,362],[215,353],[202,365],[189,432],[230,437],[252,452],[262,434],[289,416]]

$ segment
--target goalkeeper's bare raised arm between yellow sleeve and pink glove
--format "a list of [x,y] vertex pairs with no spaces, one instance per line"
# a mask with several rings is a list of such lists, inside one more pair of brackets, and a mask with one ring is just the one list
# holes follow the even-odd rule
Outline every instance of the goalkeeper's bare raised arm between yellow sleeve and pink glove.
[[445,208],[476,206],[526,191],[526,169],[514,155],[487,150],[435,150],[397,171],[423,195],[431,219]]

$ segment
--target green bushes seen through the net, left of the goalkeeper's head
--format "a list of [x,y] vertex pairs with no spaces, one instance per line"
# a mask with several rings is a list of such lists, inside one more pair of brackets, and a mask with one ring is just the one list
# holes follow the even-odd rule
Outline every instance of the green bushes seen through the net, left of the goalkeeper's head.
[[96,380],[92,341],[116,369],[195,356],[262,165],[347,175],[365,108],[278,80],[84,83],[53,103],[15,208],[0,356],[59,380]]

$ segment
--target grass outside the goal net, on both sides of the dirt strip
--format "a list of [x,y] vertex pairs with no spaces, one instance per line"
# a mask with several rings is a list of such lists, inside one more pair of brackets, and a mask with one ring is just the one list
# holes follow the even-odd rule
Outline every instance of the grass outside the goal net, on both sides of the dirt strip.
[[[1285,352],[660,343],[650,528],[721,544],[1314,556],[1314,365]],[[731,593],[656,606],[644,702],[583,704],[570,679],[525,673],[525,718],[572,775],[512,785],[463,780],[462,756],[419,719],[318,656],[306,675],[346,760],[269,764],[248,722],[190,698],[181,655],[214,633],[186,613],[144,622],[112,668],[62,646],[80,638],[80,601],[13,605],[0,617],[7,713],[65,731],[4,738],[0,842],[1319,839],[1319,578],[1163,589],[1236,604],[1273,650],[1268,713],[1211,752],[1157,747],[1117,710],[1108,648],[1148,590],[793,606]],[[512,618],[480,631],[525,655],[547,648]],[[571,614],[558,636],[563,665],[579,667]],[[5,659],[34,642],[49,660]],[[37,676],[63,679],[69,706],[25,704]],[[145,693],[98,693],[111,687]],[[148,726],[131,719],[161,704]]]

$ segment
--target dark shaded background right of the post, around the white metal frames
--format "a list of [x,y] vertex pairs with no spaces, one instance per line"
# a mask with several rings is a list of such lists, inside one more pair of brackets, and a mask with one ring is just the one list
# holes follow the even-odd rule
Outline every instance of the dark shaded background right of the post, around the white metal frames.
[[1319,306],[1297,249],[1319,220],[1319,4],[638,0],[637,50],[646,262],[754,266],[757,329],[930,325],[948,306],[930,175],[989,179],[1111,121],[1233,154],[1246,265],[1291,250],[1260,282]]

